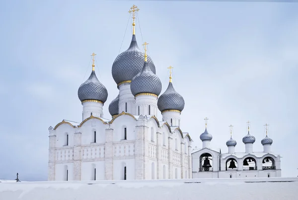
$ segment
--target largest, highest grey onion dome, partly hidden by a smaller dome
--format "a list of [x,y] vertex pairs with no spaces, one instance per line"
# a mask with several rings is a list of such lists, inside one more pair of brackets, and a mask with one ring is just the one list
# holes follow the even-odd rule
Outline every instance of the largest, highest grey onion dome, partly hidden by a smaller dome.
[[[122,52],[115,59],[112,66],[112,75],[117,84],[132,80],[143,68],[145,54],[139,49],[136,35],[133,35],[128,50]],[[155,74],[155,66],[150,57],[147,57],[148,65]]]

